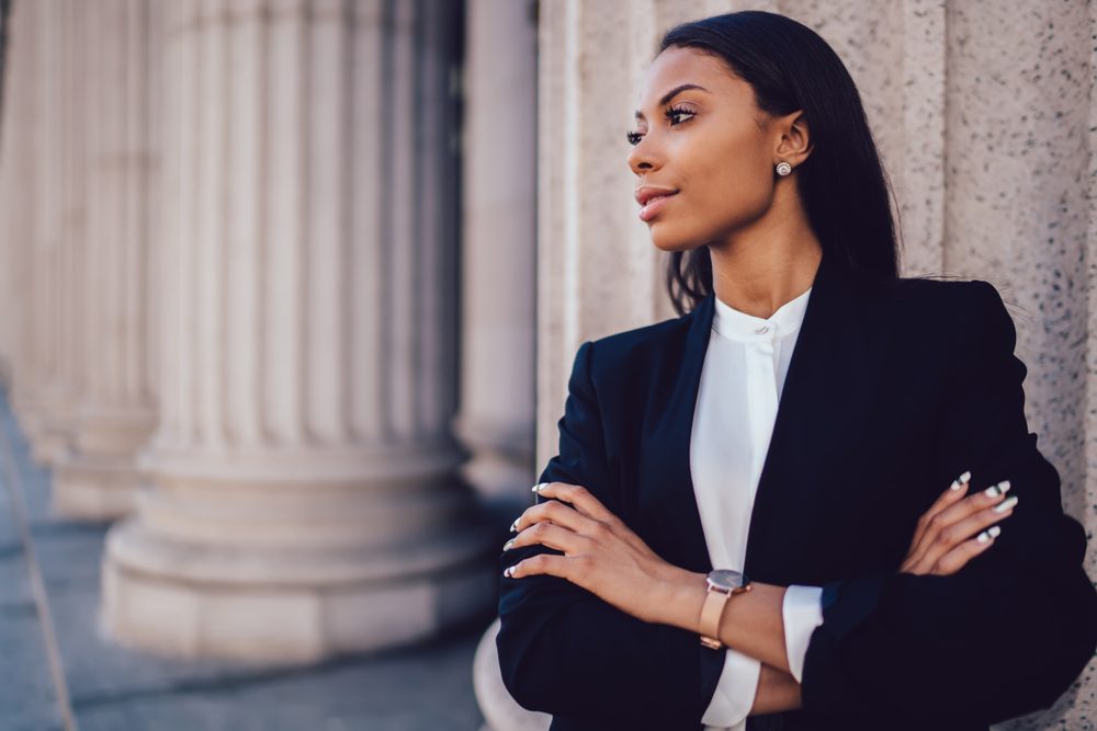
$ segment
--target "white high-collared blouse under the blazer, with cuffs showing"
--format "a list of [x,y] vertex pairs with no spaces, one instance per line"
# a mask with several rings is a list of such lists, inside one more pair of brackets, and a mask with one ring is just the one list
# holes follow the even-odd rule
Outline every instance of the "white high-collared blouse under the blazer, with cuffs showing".
[[[715,299],[690,441],[690,471],[713,568],[743,570],[755,492],[811,288],[768,318]],[[817,586],[790,586],[782,617],[799,682],[812,632],[823,624]],[[732,599],[734,601],[734,599]],[[761,663],[728,648],[706,730],[745,731]]]

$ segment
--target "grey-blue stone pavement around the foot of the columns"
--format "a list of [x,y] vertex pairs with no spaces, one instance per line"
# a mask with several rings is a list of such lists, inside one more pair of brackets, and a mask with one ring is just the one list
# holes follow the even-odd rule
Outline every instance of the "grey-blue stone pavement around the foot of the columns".
[[63,730],[66,711],[83,731],[480,727],[472,665],[491,617],[444,640],[304,670],[168,661],[104,640],[97,613],[106,526],[49,515],[49,475],[29,458],[5,400],[0,439],[0,731]]

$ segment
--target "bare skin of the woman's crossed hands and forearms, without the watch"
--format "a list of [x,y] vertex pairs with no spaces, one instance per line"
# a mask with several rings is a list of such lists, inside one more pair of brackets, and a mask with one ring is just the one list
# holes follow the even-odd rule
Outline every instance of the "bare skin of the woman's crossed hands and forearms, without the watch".
[[[1007,482],[965,496],[969,486],[970,473],[965,472],[921,516],[901,570],[914,575],[948,575],[989,548],[989,534],[976,534],[1011,515],[1017,501],[1005,499]],[[542,555],[508,569],[510,578],[555,574],[645,621],[698,631],[706,592],[703,573],[659,559],[581,486],[553,482],[538,486],[538,491],[554,500],[519,516],[513,528],[520,533],[505,548],[541,544],[564,551],[565,557],[581,556],[585,560],[580,563]],[[751,591],[725,605],[721,617],[721,641],[762,663],[750,715],[801,706],[800,683],[791,674],[785,646],[785,586],[754,582]]]

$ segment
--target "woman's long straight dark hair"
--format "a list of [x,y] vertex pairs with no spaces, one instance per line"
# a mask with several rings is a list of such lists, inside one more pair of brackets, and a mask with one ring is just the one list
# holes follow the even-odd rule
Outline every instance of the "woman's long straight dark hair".
[[[758,107],[774,116],[803,110],[812,153],[796,169],[807,221],[826,256],[883,278],[898,276],[898,244],[889,187],[860,94],[826,41],[791,18],[748,10],[677,25],[670,46],[723,59],[754,88]],[[667,292],[683,315],[712,292],[709,247],[675,252]]]

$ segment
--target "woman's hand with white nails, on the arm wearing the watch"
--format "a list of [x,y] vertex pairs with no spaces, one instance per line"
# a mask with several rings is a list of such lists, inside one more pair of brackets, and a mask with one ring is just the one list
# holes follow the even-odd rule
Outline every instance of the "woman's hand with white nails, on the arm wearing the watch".
[[521,579],[550,574],[583,586],[604,602],[644,621],[659,621],[660,597],[681,582],[683,570],[667,563],[617,515],[578,484],[547,482],[539,494],[551,498],[518,516],[517,537],[504,550],[542,544],[564,556],[539,553],[507,569]]

